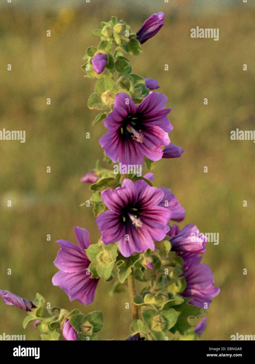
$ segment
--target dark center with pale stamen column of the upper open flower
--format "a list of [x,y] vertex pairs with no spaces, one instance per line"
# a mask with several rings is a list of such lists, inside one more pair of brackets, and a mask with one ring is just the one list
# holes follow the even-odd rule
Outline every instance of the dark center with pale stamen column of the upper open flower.
[[143,143],[144,135],[141,127],[142,119],[138,114],[127,116],[123,120],[122,127],[120,128],[120,138],[122,140],[132,138],[138,143]]

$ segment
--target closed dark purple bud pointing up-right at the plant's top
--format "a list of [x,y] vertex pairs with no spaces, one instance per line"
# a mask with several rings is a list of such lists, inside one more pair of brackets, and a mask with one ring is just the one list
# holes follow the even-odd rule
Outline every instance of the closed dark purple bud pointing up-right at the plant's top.
[[152,14],[136,33],[136,38],[140,44],[153,37],[164,25],[164,13]]

